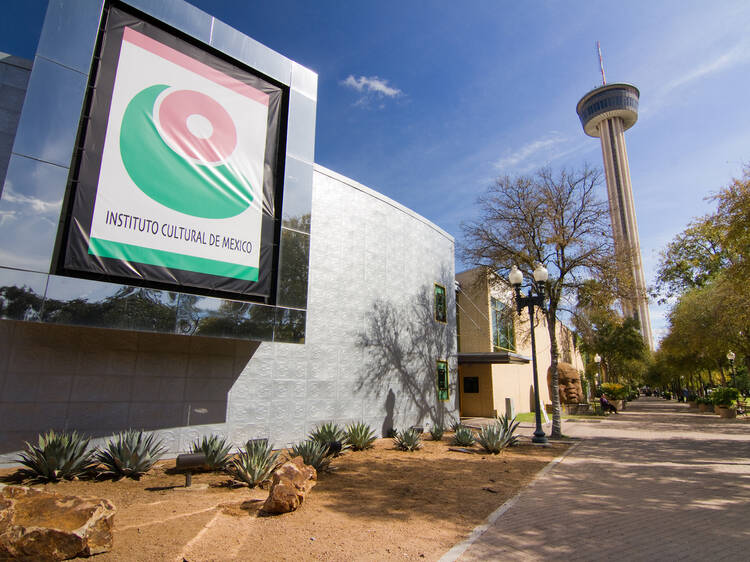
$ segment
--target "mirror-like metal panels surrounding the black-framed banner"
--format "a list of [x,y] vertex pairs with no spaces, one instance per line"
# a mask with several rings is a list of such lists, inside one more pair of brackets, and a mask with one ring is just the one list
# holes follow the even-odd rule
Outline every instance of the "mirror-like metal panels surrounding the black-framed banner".
[[304,342],[317,75],[182,0],[125,3],[289,87],[277,306],[50,275],[103,9],[102,0],[50,0],[28,85],[0,65],[2,103],[23,101],[15,121],[0,106],[0,318]]

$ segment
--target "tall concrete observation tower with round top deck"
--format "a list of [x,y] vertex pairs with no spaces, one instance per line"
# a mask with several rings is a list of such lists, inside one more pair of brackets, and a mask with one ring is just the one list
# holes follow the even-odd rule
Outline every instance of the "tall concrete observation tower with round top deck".
[[623,313],[638,319],[643,341],[653,349],[651,318],[646,302],[646,281],[641,262],[641,245],[638,240],[638,224],[635,220],[633,188],[630,183],[630,166],[624,135],[624,132],[638,120],[639,95],[638,88],[630,84],[605,82],[603,86],[583,96],[576,106],[576,111],[584,132],[601,140],[615,247],[630,253],[630,270],[635,292],[631,299],[623,302]]

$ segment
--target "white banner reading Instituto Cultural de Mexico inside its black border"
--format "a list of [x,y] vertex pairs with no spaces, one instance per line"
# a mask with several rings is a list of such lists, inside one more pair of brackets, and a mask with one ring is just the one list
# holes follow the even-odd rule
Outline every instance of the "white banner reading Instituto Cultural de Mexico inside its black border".
[[270,96],[185,51],[123,30],[89,252],[257,281]]

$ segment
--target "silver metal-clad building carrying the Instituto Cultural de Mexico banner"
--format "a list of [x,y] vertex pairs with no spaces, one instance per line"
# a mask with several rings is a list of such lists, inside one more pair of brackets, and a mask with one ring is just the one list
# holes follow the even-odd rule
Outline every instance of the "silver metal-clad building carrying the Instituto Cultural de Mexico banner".
[[314,72],[180,0],[50,0],[0,84],[0,463],[458,416],[454,241],[314,163]]

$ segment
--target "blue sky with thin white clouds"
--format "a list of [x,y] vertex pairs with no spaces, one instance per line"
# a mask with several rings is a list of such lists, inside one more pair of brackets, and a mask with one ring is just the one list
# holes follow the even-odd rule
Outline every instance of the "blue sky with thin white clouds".
[[[607,81],[641,91],[626,140],[649,282],[659,250],[750,162],[745,0],[192,3],[318,72],[318,163],[458,241],[494,177],[601,165],[575,113],[601,82],[596,40]],[[45,6],[5,0],[0,51],[32,58]],[[657,337],[664,312],[651,307]]]

